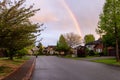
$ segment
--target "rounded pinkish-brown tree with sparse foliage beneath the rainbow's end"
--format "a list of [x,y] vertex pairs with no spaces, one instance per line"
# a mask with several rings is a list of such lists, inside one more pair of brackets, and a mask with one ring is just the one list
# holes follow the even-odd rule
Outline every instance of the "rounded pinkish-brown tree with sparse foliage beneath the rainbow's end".
[[70,47],[78,45],[81,43],[81,36],[74,33],[67,33],[64,35],[64,38]]

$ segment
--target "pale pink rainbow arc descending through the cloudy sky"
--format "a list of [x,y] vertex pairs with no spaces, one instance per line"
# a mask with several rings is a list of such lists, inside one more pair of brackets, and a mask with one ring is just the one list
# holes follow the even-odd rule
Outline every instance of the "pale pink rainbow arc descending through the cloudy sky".
[[72,12],[71,9],[69,8],[69,6],[66,4],[65,0],[61,0],[61,1],[62,1],[63,6],[64,6],[64,7],[66,8],[66,10],[68,11],[70,17],[72,18],[78,34],[79,34],[80,36],[82,36],[81,30],[80,30],[80,26],[79,26],[79,23],[78,23],[75,15],[73,14],[73,12]]

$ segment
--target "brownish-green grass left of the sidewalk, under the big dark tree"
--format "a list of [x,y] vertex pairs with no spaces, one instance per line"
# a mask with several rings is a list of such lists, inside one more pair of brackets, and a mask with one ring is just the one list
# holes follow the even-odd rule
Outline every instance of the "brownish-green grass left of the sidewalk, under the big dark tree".
[[14,58],[14,60],[12,61],[8,58],[0,58],[0,79],[16,70],[28,59],[29,57],[23,57],[22,59]]

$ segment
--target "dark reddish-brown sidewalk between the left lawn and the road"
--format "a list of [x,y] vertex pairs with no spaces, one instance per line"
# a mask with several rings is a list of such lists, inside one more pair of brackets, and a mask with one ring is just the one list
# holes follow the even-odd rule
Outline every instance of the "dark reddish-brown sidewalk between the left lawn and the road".
[[18,70],[2,80],[29,80],[34,68],[35,60],[35,57],[31,57],[31,59],[25,62]]

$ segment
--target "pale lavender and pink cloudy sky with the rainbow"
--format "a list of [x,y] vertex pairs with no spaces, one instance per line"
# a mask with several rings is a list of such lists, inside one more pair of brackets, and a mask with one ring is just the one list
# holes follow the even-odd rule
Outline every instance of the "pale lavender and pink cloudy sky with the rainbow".
[[105,0],[27,0],[26,4],[35,4],[40,11],[31,18],[36,23],[44,23],[46,27],[37,38],[44,46],[56,45],[61,34],[73,32],[84,38],[93,34],[99,36],[95,29]]

